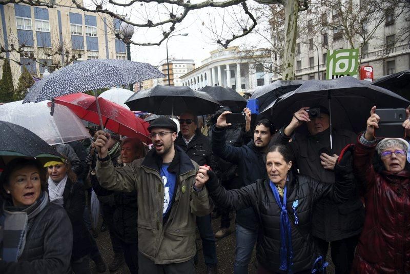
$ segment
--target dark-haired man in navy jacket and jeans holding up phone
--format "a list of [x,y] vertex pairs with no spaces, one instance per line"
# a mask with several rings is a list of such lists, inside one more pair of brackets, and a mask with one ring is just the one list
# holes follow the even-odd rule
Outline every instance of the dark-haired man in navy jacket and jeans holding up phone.
[[[251,130],[251,111],[246,113],[245,130]],[[250,185],[258,179],[267,177],[265,163],[274,126],[267,119],[256,123],[254,139],[246,146],[234,147],[226,143],[226,115],[224,111],[212,127],[212,151],[223,160],[238,165],[238,175],[243,180],[243,186]],[[236,211],[236,251],[234,273],[248,273],[253,248],[258,238],[258,219],[252,207]]]

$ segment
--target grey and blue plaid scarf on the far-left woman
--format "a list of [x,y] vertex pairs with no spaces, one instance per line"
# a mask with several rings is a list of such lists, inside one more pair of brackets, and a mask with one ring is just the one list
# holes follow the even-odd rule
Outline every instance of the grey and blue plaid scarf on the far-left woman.
[[42,191],[40,197],[30,206],[17,207],[9,201],[3,203],[3,248],[2,258],[5,262],[17,262],[26,245],[28,223],[34,219],[48,204],[48,195]]

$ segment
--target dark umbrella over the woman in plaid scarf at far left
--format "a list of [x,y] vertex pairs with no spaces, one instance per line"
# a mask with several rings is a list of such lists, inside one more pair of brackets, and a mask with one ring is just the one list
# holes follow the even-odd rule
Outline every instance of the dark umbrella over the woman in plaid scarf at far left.
[[30,130],[9,122],[0,121],[0,167],[15,158],[37,159],[42,164],[61,162],[61,154]]

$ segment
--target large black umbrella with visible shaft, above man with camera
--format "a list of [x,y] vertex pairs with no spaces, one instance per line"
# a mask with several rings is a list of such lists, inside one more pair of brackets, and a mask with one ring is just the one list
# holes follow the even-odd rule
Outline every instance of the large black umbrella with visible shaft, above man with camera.
[[392,91],[346,76],[334,80],[306,81],[298,89],[279,97],[262,112],[268,114],[270,111],[272,121],[277,127],[282,127],[301,107],[324,106],[330,111],[331,129],[334,126],[360,132],[365,129],[373,106],[405,108],[409,103]]

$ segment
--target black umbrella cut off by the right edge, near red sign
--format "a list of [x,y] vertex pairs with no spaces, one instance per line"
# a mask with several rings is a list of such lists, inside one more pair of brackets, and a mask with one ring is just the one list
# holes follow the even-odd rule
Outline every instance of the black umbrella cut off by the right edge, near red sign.
[[391,90],[405,99],[410,99],[410,69],[384,76],[371,85]]

